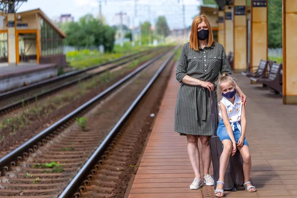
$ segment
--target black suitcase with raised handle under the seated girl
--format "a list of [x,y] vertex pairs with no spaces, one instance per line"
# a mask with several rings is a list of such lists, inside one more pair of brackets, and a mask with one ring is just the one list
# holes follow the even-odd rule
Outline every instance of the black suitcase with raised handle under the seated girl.
[[[214,177],[214,188],[216,189],[216,183],[219,179],[219,169],[220,169],[220,156],[223,151],[223,144],[219,137],[216,135],[213,112],[218,114],[217,111],[217,101],[213,105],[212,95],[210,92],[210,102],[211,102],[211,120],[213,124],[213,136],[209,140],[212,166],[213,166],[213,177]],[[227,166],[225,174],[225,185],[224,190],[226,191],[236,191],[236,186],[243,186],[244,184],[244,171],[243,171],[243,158],[239,152],[229,158],[229,163]]]

